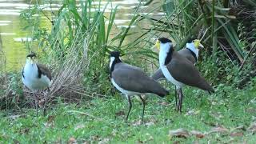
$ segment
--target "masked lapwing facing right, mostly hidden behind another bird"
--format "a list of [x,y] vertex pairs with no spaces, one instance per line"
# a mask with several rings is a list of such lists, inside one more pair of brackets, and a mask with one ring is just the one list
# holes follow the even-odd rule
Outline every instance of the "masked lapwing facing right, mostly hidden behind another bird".
[[[178,54],[181,54],[183,57],[190,60],[192,63],[196,63],[198,61],[198,55],[199,50],[204,48],[202,44],[200,43],[200,40],[195,38],[190,38],[188,42],[186,42],[186,47],[182,50],[178,50]],[[159,51],[159,50],[158,50]],[[168,64],[167,67],[170,65]],[[166,79],[166,77],[162,74],[162,70],[159,67],[159,69],[151,76],[154,80],[163,80]],[[175,103],[177,106],[177,89],[175,87]]]

